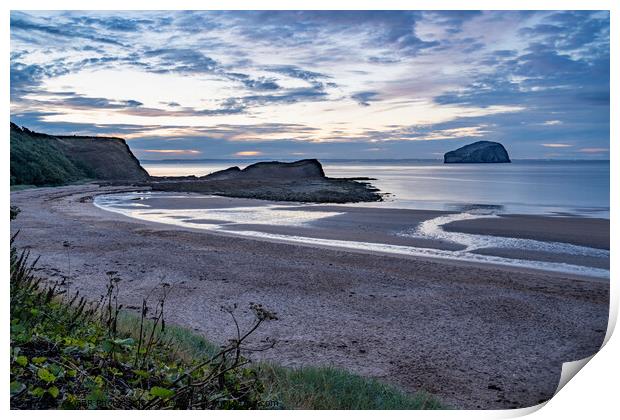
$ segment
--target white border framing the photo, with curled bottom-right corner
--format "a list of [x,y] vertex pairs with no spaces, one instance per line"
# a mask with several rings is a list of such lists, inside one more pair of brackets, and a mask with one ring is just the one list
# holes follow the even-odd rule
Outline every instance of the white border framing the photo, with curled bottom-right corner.
[[[2,2],[3,13],[0,17],[0,31],[2,32],[2,48],[3,48],[3,66],[0,69],[2,73],[2,85],[1,85],[1,97],[4,98],[4,114],[10,114],[9,106],[9,51],[10,51],[10,14],[11,9],[14,10],[174,10],[174,9],[190,9],[190,10],[286,10],[286,9],[327,9],[327,10],[343,10],[343,9],[360,9],[360,10],[611,10],[611,115],[619,115],[618,110],[618,74],[620,68],[618,67],[618,51],[617,41],[620,40],[620,33],[618,31],[618,18],[620,3],[612,0],[503,0],[503,1],[489,1],[489,0],[471,0],[468,2],[458,0],[435,0],[435,1],[404,1],[404,0],[357,0],[343,1],[343,0],[297,0],[285,1],[285,0],[261,0],[259,1],[242,1],[242,0],[221,0],[215,1],[196,1],[196,0],[152,0],[152,1],[128,1],[128,0],[91,0],[84,2],[83,0],[57,0],[53,3],[45,1],[35,0],[8,0]],[[88,7],[87,7],[88,6]],[[8,129],[8,121],[5,121]],[[8,130],[7,130],[8,131]],[[6,133],[6,131],[4,131]],[[611,139],[618,138],[618,120],[617,118],[611,119]],[[610,156],[615,157],[618,152],[618,147],[615,143],[610,142],[611,153]],[[9,141],[8,138],[3,136],[3,141],[0,143],[0,154],[4,156],[5,164],[0,167],[2,171],[0,173],[0,179],[4,180],[2,184],[2,202],[4,211],[7,211],[9,205],[9,165],[6,165],[6,160],[9,157]],[[618,167],[611,165],[611,202],[620,203],[620,186],[618,185]],[[617,223],[618,212],[616,206],[611,206],[611,289],[612,289],[612,302],[610,308],[610,323],[607,332],[606,340],[609,340],[605,347],[589,362],[578,374],[576,380],[570,381],[565,388],[563,388],[558,395],[552,398],[543,409],[536,411],[540,407],[512,410],[512,411],[453,411],[453,412],[405,412],[405,411],[392,411],[389,416],[399,418],[410,418],[415,416],[416,418],[510,418],[522,416],[533,411],[536,411],[532,415],[532,418],[547,419],[547,418],[610,418],[612,413],[618,412],[617,386],[618,386],[618,374],[620,373],[619,361],[616,355],[620,354],[620,342],[617,337],[611,337],[611,332],[615,326],[618,313],[618,287],[616,284],[618,269],[620,268],[618,258],[616,257],[616,250],[619,241],[619,228]],[[8,218],[3,221],[2,224],[2,236],[5,238],[2,242],[2,248],[0,249],[0,258],[2,258],[5,279],[4,281],[4,305],[2,305],[3,319],[0,322],[1,337],[3,342],[3,348],[5,352],[9,348],[9,305],[8,305],[8,256],[9,256],[9,223]],[[5,353],[4,357],[0,359],[2,364],[2,371],[5,372],[5,379],[1,383],[2,391],[0,398],[2,399],[3,407],[8,410],[9,407],[9,390],[8,390],[8,355]],[[14,416],[32,415],[32,413],[19,413],[12,412]],[[290,412],[124,412],[122,416],[128,416],[132,418],[138,418],[148,415],[151,418],[164,418],[169,416],[183,416],[193,418],[204,418],[204,416],[217,417],[217,418],[239,418],[251,415],[254,418],[283,418],[288,417]],[[108,412],[47,412],[45,414],[37,413],[34,415],[45,415],[51,418],[77,418],[78,416],[91,416],[93,418],[109,417],[111,413]],[[372,418],[379,413],[373,412],[354,412],[354,413],[338,413],[338,412],[296,412],[296,416],[300,418],[314,418],[316,416],[356,416],[361,418]]]

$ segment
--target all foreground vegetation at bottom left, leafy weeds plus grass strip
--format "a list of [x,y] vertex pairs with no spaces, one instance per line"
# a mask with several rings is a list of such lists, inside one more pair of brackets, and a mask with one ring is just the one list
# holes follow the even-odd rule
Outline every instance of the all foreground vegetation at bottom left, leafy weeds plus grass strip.
[[[11,207],[11,219],[19,213]],[[235,307],[223,308],[237,336],[218,347],[164,319],[169,286],[144,299],[140,314],[118,303],[116,272],[107,293],[88,302],[67,296],[58,283],[34,274],[36,260],[11,238],[11,407],[14,409],[437,409],[425,393],[331,367],[284,368],[250,363],[247,338],[276,319],[252,305],[255,321],[243,330]],[[271,348],[268,343],[263,349]],[[258,349],[261,350],[261,349]]]

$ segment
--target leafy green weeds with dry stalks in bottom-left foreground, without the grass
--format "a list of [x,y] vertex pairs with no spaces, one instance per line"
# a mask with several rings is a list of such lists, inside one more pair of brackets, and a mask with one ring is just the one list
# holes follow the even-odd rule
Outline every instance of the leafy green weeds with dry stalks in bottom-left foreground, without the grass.
[[251,307],[254,323],[215,354],[174,357],[166,339],[164,284],[151,309],[143,301],[139,331],[120,332],[119,282],[108,272],[98,302],[66,296],[34,274],[28,251],[11,238],[11,407],[101,409],[253,409],[264,406],[263,384],[242,356],[245,342],[275,315]]

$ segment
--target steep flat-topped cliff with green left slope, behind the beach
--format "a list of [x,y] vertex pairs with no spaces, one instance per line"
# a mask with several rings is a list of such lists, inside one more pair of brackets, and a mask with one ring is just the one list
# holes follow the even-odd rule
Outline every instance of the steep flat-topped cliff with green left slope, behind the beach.
[[11,184],[60,185],[80,179],[144,181],[149,174],[125,140],[52,136],[11,123]]

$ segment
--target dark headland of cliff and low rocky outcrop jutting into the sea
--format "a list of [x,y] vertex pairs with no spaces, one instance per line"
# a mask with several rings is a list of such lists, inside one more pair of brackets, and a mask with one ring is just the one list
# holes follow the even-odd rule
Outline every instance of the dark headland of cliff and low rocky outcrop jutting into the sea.
[[325,176],[316,159],[259,162],[201,177],[154,177],[123,139],[52,136],[11,123],[11,185],[53,186],[82,180],[275,201],[351,203],[382,197],[367,179]]

